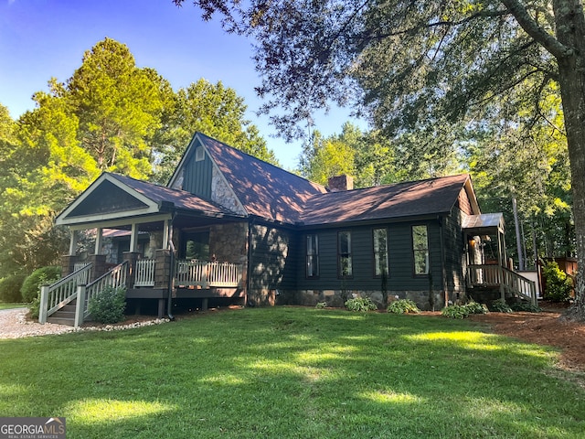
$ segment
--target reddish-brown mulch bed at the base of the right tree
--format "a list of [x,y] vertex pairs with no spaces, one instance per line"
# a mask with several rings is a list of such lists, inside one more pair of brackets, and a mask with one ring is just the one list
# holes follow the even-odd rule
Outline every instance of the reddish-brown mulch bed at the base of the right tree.
[[565,309],[558,305],[542,306],[541,313],[489,313],[469,318],[489,325],[495,334],[560,348],[561,367],[585,371],[585,323],[561,319]]

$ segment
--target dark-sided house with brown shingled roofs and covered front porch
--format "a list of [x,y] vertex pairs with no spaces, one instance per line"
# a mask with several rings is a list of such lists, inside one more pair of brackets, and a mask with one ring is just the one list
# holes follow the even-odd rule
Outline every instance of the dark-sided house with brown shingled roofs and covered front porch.
[[[468,175],[361,189],[340,176],[323,187],[199,133],[167,186],[104,173],[56,222],[71,241],[41,321],[69,306],[80,324],[104,284],[123,284],[136,312],[155,305],[159,316],[182,298],[343,305],[357,294],[441,309],[534,287],[505,267],[502,214],[480,212]],[[77,252],[81,230],[94,230],[92,254]],[[112,233],[127,240],[115,261]]]

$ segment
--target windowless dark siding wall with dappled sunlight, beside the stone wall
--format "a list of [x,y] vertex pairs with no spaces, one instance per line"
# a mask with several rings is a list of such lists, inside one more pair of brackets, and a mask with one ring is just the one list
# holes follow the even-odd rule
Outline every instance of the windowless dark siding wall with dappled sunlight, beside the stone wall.
[[296,288],[298,233],[272,226],[252,226],[252,290],[293,290]]

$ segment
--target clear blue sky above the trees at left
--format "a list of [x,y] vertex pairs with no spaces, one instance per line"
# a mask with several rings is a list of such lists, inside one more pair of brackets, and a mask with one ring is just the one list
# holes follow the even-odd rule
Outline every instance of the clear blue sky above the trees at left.
[[[0,103],[13,118],[34,108],[31,96],[46,91],[51,77],[65,81],[80,67],[83,52],[104,37],[130,48],[139,67],[157,70],[176,90],[199,78],[221,80],[248,105],[248,118],[293,169],[300,142],[285,144],[266,116],[255,111],[260,76],[250,59],[251,41],[228,35],[218,20],[205,23],[189,0],[0,0]],[[325,135],[340,133],[349,111],[316,114]],[[364,123],[360,126],[365,128]]]

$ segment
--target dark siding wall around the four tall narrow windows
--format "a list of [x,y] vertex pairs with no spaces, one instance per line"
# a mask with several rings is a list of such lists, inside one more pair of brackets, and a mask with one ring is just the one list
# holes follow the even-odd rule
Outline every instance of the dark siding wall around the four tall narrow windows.
[[[343,287],[351,290],[380,290],[381,279],[374,275],[373,231],[388,230],[388,291],[427,291],[429,276],[415,276],[413,268],[411,226],[428,226],[430,263],[433,289],[441,288],[441,245],[440,228],[437,220],[381,223],[340,229],[307,230],[303,233],[298,248],[297,287],[301,290],[338,290],[342,280],[337,273],[337,232],[349,230],[352,233],[353,277],[344,281]],[[319,236],[320,275],[317,279],[306,279],[304,260],[304,236],[316,233]]]

